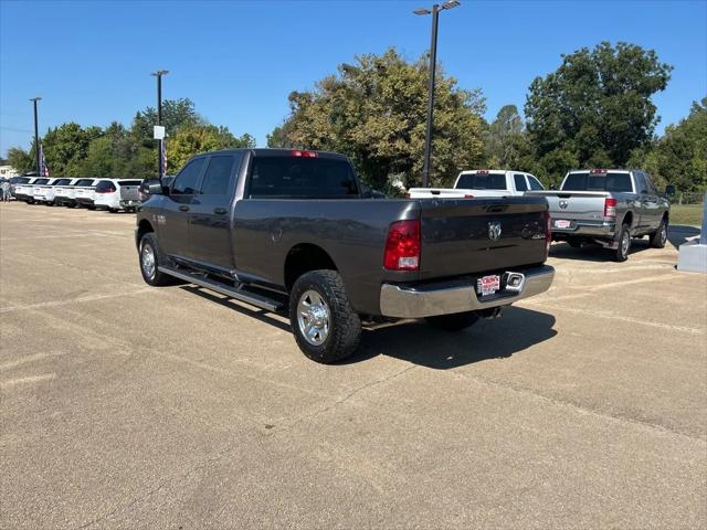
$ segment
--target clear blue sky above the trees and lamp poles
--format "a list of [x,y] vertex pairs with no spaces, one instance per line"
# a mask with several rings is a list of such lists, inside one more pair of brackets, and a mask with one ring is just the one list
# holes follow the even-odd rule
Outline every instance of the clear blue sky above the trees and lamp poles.
[[[155,105],[150,72],[165,68],[166,98],[190,97],[211,123],[258,145],[287,115],[287,94],[351,62],[397,46],[408,59],[430,44],[421,1],[0,0],[0,155],[28,147],[29,98],[40,132],[64,121],[129,125]],[[707,0],[475,1],[443,12],[439,59],[462,87],[483,89],[487,117],[525,103],[560,54],[600,41],[655,49],[675,66],[654,100],[658,131],[707,95]]]

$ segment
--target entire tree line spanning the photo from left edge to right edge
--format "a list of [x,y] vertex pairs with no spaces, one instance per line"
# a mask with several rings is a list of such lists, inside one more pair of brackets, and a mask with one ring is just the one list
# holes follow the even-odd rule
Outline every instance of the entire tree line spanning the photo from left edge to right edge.
[[[667,87],[671,71],[654,51],[634,44],[582,47],[532,81],[525,119],[507,105],[486,123],[482,92],[460,87],[437,67],[431,184],[451,186],[460,170],[473,168],[529,171],[550,186],[569,169],[640,167],[661,184],[705,190],[707,97],[655,136],[652,97]],[[420,186],[428,75],[426,55],[408,61],[391,47],[356,56],[312,89],[291,93],[289,114],[267,145],[344,152],[366,183],[387,192]],[[54,176],[155,177],[156,123],[148,107],[129,128],[114,121],[105,129],[73,123],[50,129],[42,140],[48,165]],[[165,102],[162,123],[170,173],[197,152],[254,146],[247,134],[208,124],[189,99]],[[19,171],[31,170],[34,146],[12,148],[7,158]]]

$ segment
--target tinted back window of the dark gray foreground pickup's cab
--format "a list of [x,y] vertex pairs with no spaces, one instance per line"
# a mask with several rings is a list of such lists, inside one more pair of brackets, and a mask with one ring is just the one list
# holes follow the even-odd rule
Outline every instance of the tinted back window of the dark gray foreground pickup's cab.
[[358,194],[347,160],[267,156],[253,159],[251,198],[336,199]]

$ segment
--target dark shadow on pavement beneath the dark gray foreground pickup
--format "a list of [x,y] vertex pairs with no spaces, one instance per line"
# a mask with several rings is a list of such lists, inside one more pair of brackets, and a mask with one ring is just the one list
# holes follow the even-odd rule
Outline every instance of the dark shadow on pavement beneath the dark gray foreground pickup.
[[[182,285],[180,288],[291,332],[289,324],[282,321],[282,318],[287,318],[284,312],[251,308],[193,285]],[[421,367],[449,370],[490,359],[507,359],[555,337],[557,331],[552,326],[552,315],[510,307],[504,310],[500,318],[481,319],[460,332],[435,329],[424,320],[404,320],[372,329],[365,327],[358,352],[337,364],[354,364],[378,356],[389,356]]]

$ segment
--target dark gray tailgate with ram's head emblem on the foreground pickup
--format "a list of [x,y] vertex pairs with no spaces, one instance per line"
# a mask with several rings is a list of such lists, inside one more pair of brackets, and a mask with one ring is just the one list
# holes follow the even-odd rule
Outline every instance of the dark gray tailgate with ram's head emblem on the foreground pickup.
[[547,210],[544,198],[421,201],[421,278],[545,262]]

